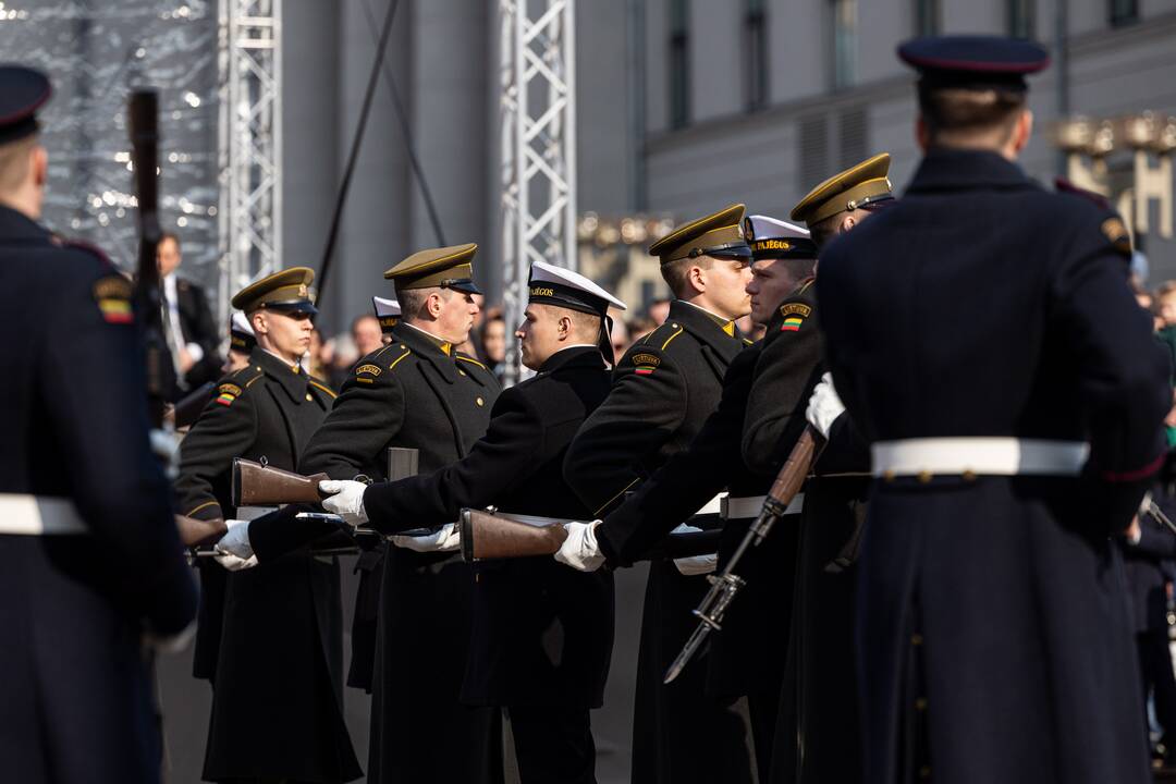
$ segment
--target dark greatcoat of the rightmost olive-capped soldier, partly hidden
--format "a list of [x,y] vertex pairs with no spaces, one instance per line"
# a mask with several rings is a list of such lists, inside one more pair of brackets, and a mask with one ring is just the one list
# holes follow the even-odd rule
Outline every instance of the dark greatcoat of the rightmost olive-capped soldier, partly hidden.
[[[801,319],[784,329],[786,317]],[[824,370],[823,341],[811,281],[777,309],[764,337],[768,356],[757,383],[788,375],[799,384],[791,407],[756,396],[743,431],[743,457],[754,470],[779,471],[806,425],[808,400]],[[783,357],[788,357],[787,361]],[[797,368],[791,373],[788,368]],[[807,370],[800,370],[807,368]],[[803,380],[803,381],[802,381]],[[771,752],[774,783],[861,779],[857,679],[854,664],[854,592],[857,543],[869,485],[869,451],[849,436],[848,415],[834,423],[804,484],[800,516],[791,634]]]

